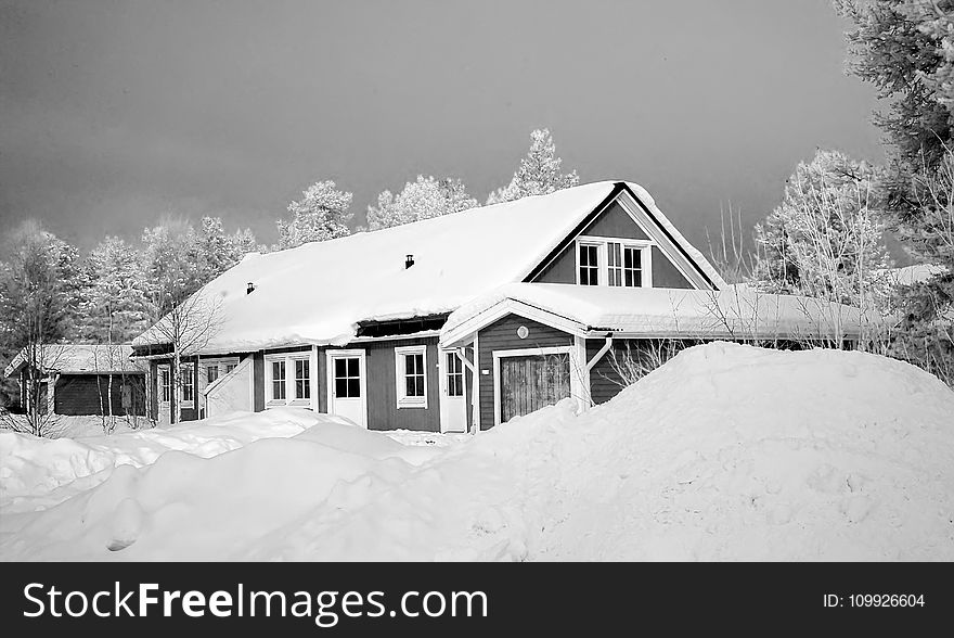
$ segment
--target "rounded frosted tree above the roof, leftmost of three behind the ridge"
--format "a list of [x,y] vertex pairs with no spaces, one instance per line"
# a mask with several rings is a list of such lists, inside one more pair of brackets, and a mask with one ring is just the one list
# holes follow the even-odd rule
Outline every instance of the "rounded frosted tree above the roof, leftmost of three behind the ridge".
[[292,219],[278,221],[278,250],[351,234],[347,226],[352,217],[348,213],[351,193],[339,191],[335,188],[335,182],[326,180],[311,184],[301,195],[301,200],[288,204]]

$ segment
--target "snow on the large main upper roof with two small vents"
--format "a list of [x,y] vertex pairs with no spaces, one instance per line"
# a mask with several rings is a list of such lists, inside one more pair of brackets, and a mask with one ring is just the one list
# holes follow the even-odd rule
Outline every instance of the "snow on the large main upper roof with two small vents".
[[[249,255],[199,295],[220,308],[220,330],[204,354],[351,341],[361,321],[451,312],[505,283],[521,281],[620,182],[602,181],[549,195],[405,226],[360,232],[296,248]],[[717,285],[722,279],[637,184],[627,186]],[[404,267],[408,255],[414,265]],[[253,283],[254,292],[246,294]],[[163,343],[151,329],[134,346]]]

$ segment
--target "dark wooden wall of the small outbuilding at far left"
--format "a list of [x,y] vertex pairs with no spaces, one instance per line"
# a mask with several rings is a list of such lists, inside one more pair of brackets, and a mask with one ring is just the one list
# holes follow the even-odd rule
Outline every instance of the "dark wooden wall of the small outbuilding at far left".
[[[130,409],[123,406],[123,388],[128,387]],[[117,417],[145,416],[145,374],[114,374],[112,401],[108,374],[61,374],[53,394],[53,411],[57,414],[102,414],[104,409]]]

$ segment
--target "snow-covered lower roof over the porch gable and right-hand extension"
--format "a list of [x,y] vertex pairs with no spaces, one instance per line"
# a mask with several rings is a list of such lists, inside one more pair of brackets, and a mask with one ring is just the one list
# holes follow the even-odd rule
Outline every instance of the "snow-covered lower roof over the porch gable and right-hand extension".
[[507,314],[571,334],[706,339],[833,339],[859,334],[868,317],[852,306],[758,292],[513,283],[451,314],[441,344],[459,346]]

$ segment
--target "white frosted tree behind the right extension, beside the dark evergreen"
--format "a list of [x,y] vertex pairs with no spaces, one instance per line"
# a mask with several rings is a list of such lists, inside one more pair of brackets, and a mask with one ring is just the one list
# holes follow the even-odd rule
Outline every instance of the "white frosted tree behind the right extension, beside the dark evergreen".
[[877,218],[875,170],[837,151],[800,163],[782,204],[756,226],[755,278],[772,292],[859,306],[888,265]]

